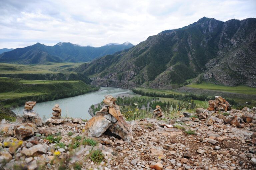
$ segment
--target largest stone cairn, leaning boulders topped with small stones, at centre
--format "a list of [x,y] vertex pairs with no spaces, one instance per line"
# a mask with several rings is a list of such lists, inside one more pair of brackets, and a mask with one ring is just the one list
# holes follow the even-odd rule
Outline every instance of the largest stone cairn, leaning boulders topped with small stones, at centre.
[[86,133],[90,137],[100,137],[104,132],[109,131],[124,140],[131,140],[132,128],[124,119],[119,106],[115,104],[116,98],[106,95],[103,100],[104,106],[100,111],[96,111],[96,116],[92,117],[85,125]]

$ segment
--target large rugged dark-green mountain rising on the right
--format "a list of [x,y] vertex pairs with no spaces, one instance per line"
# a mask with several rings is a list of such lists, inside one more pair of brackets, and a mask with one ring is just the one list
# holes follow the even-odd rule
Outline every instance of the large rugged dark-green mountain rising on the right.
[[255,18],[223,22],[203,17],[76,70],[91,76],[92,84],[110,87],[172,88],[193,78],[197,82],[256,87],[255,63]]

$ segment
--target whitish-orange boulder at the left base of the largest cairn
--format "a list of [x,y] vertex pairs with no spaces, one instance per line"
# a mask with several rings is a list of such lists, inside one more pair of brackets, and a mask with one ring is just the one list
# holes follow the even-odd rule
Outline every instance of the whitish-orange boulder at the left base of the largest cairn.
[[103,116],[94,116],[86,123],[88,136],[100,137],[113,123]]

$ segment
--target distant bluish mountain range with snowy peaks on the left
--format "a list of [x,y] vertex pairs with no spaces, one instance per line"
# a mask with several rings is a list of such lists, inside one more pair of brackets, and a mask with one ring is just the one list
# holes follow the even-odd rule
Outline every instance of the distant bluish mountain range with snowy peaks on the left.
[[25,48],[17,48],[0,55],[0,62],[19,64],[46,64],[48,62],[88,62],[95,58],[133,47],[129,42],[121,45],[102,47],[80,46],[72,43],[58,43],[46,46],[36,43]]

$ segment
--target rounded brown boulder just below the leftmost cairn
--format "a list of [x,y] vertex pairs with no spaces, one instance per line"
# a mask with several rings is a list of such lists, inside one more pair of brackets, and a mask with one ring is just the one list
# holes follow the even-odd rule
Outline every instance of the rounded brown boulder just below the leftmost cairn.
[[16,136],[20,140],[24,140],[25,138],[34,135],[38,132],[37,127],[34,123],[22,123],[16,125],[14,128]]

